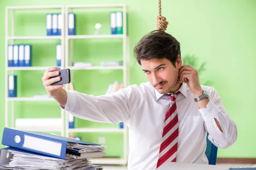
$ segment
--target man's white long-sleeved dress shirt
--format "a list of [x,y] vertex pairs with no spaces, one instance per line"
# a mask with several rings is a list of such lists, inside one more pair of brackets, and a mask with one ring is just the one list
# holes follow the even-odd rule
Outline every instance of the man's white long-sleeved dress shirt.
[[[201,88],[210,96],[207,108],[201,109],[186,83],[178,90],[181,93],[176,99],[179,125],[176,162],[208,164],[207,131],[208,139],[217,147],[227,148],[236,142],[236,124],[221,105],[216,90],[204,85]],[[129,127],[128,170],[154,170],[170,103],[171,96],[158,93],[146,82],[104,96],[67,91],[64,110],[94,122],[126,123]]]

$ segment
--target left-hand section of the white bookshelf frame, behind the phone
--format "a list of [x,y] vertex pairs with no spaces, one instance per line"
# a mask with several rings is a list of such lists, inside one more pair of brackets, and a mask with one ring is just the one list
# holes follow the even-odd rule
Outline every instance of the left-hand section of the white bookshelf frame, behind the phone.
[[[30,101],[30,102],[40,102],[40,101],[54,101],[52,98],[44,98],[44,97],[9,97],[8,96],[8,75],[9,74],[16,74],[17,71],[45,71],[49,67],[8,67],[8,45],[9,44],[16,44],[16,40],[61,40],[61,45],[64,47],[64,17],[63,17],[63,26],[61,32],[63,34],[61,36],[17,36],[15,35],[15,12],[16,11],[27,11],[27,10],[37,10],[38,12],[41,12],[42,15],[46,16],[45,9],[58,9],[61,11],[60,13],[64,16],[64,6],[8,6],[6,7],[6,52],[5,52],[5,127],[10,128],[17,128],[15,126],[15,102],[20,101]],[[21,28],[22,29],[22,28]],[[46,29],[46,28],[45,28]],[[9,30],[11,30],[9,32]],[[46,33],[46,30],[45,30]],[[33,54],[32,54],[33,55]],[[36,59],[36,57],[32,58]],[[64,48],[62,48],[62,54],[61,54],[61,65],[64,66]],[[64,67],[63,67],[64,68]],[[22,72],[20,73],[22,74]],[[18,84],[17,84],[18,86]],[[46,103],[44,103],[46,104]],[[11,105],[11,107],[9,107]],[[61,119],[62,125],[58,126],[45,126],[45,127],[38,127],[36,125],[34,126],[26,126],[19,128],[20,130],[30,130],[30,131],[46,131],[46,132],[60,132],[61,136],[65,135],[65,116],[64,111],[60,109],[60,115],[59,119]],[[11,124],[9,124],[11,122]]]

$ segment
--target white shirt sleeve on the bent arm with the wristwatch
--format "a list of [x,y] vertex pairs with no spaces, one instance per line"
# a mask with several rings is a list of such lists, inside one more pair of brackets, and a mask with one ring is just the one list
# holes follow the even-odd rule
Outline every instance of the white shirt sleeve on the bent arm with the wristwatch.
[[[204,127],[209,133],[208,139],[217,147],[230,147],[237,139],[236,123],[221,104],[221,97],[218,96],[217,91],[214,88],[206,90],[208,93],[210,91],[210,100],[207,107],[201,108],[199,111],[205,122]],[[218,128],[214,118],[218,120],[223,133]]]

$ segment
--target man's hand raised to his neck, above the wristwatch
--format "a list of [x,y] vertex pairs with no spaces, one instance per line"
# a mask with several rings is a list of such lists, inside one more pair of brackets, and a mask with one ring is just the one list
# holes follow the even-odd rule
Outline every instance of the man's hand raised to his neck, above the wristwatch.
[[203,94],[201,88],[198,71],[195,68],[192,68],[190,65],[182,65],[179,71],[180,82],[187,83],[190,88],[190,91],[198,97]]

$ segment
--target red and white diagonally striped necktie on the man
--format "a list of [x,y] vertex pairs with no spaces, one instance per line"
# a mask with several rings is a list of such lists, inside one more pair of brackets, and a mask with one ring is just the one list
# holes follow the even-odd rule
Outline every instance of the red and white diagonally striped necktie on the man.
[[162,142],[160,145],[157,168],[164,162],[176,162],[176,153],[178,146],[178,114],[176,106],[176,98],[180,94],[178,91],[176,94],[169,94],[171,96],[171,105],[166,113],[166,119],[164,122]]

